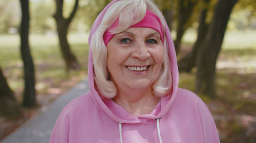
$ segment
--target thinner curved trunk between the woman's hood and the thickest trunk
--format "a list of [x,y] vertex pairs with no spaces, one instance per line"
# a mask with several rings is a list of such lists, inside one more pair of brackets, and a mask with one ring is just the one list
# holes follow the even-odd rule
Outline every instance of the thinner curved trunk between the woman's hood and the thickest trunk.
[[[203,6],[208,6],[210,0],[204,0]],[[201,11],[200,17],[199,17],[199,27],[198,27],[198,33],[197,33],[197,40],[192,48],[192,51],[189,52],[184,58],[182,58],[178,62],[179,71],[185,71],[190,72],[191,69],[196,65],[196,57],[198,54],[198,49],[200,45],[202,44],[205,35],[208,30],[208,25],[205,22],[205,18],[208,12],[208,8],[204,7]]]

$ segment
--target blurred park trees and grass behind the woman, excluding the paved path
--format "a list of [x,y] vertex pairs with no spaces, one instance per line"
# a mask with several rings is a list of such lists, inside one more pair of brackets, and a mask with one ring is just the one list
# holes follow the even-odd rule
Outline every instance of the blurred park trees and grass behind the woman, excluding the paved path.
[[[0,140],[87,78],[88,35],[110,0],[0,1]],[[196,92],[221,142],[256,142],[256,1],[158,0],[179,86]]]

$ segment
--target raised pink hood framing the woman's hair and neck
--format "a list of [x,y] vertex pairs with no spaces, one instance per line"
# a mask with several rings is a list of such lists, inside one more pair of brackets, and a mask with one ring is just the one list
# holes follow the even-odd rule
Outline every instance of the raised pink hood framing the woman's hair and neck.
[[[102,12],[98,15],[96,20],[94,21],[94,24],[92,26],[90,35],[89,35],[89,45],[91,38],[93,37],[93,34],[98,29],[101,20],[103,18],[103,15],[105,14],[106,10],[115,2],[118,2],[120,0],[114,0],[112,1],[108,6],[106,6]],[[92,99],[94,100],[97,107],[108,114],[115,122],[118,123],[128,123],[128,124],[135,124],[135,123],[141,123],[145,120],[156,120],[157,118],[163,117],[166,112],[170,109],[172,106],[173,101],[175,100],[177,89],[178,89],[178,65],[177,65],[177,59],[176,59],[176,52],[174,48],[174,43],[172,36],[170,35],[167,23],[165,21],[165,37],[167,38],[168,42],[168,56],[170,61],[170,67],[172,69],[172,89],[170,90],[169,94],[167,94],[164,97],[161,97],[161,101],[156,106],[156,108],[152,111],[151,114],[145,114],[140,116],[134,116],[128,113],[126,110],[124,110],[122,107],[120,107],[118,104],[116,104],[112,99],[106,99],[102,101],[102,98],[99,96],[98,92],[95,89],[94,84],[94,69],[93,69],[93,57],[91,52],[91,47],[89,51],[89,63],[88,63],[88,79],[89,79],[89,85],[90,85],[90,93],[92,96]],[[91,46],[91,45],[90,45]]]

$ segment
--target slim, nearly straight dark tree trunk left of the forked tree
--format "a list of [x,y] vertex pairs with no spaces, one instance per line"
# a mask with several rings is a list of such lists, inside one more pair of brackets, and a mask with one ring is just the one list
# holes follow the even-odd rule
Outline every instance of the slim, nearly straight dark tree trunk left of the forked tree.
[[33,107],[35,99],[35,74],[34,64],[29,49],[29,0],[20,0],[22,6],[22,22],[20,24],[20,52],[24,63],[24,99],[23,106]]

